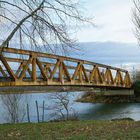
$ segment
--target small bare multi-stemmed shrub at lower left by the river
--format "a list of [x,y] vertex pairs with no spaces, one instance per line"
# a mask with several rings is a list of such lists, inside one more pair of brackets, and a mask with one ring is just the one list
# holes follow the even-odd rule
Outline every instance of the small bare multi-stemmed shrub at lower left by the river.
[[26,115],[27,98],[24,94],[1,95],[5,108],[5,118],[9,123],[22,122]]

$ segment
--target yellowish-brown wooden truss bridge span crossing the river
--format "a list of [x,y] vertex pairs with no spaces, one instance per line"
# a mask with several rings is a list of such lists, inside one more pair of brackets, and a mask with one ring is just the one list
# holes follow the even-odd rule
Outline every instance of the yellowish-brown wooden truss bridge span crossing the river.
[[15,48],[0,48],[0,88],[81,86],[131,89],[128,71],[91,61]]

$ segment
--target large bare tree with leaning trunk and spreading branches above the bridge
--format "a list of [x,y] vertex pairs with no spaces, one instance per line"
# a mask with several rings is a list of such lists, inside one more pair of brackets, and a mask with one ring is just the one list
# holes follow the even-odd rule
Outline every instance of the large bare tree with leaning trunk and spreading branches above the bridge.
[[30,44],[32,49],[66,51],[75,42],[69,29],[89,21],[79,7],[78,0],[0,0],[0,47],[14,41],[21,48]]

